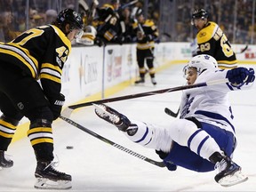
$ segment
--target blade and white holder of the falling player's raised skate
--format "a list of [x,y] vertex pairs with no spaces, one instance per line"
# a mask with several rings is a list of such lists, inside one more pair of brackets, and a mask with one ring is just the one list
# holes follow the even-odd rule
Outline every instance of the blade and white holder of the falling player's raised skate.
[[92,103],[92,105],[95,107],[95,113],[104,120],[111,122],[112,124],[116,124],[120,121],[120,118],[118,116],[108,112],[108,107],[94,103]]

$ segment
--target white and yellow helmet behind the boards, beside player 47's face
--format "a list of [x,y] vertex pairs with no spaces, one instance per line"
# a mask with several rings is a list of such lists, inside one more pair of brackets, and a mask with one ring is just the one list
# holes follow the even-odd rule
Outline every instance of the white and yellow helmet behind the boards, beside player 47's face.
[[80,39],[76,39],[76,43],[92,45],[94,44],[94,39],[97,35],[97,30],[92,26],[86,26],[84,28],[84,35]]

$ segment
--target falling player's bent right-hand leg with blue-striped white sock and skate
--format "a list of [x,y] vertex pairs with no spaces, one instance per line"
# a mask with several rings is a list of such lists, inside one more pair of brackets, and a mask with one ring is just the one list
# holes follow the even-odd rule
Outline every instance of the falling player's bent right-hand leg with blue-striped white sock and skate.
[[180,146],[188,147],[198,156],[215,164],[218,173],[214,179],[220,185],[228,187],[248,179],[242,174],[241,167],[230,158],[235,147],[231,132],[212,124],[201,124],[196,118],[191,121],[176,120],[167,132]]

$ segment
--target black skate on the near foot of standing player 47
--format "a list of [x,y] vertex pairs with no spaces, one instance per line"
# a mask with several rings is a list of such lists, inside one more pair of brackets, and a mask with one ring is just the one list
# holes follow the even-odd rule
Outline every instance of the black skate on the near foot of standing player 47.
[[58,172],[51,162],[37,162],[35,188],[41,189],[68,189],[71,186],[71,175]]

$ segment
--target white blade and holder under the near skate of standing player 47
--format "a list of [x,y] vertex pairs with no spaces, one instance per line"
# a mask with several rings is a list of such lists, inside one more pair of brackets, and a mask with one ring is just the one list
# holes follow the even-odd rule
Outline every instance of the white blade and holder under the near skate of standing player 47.
[[38,189],[69,189],[72,188],[70,180],[49,180],[45,178],[37,178],[34,185]]

